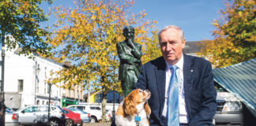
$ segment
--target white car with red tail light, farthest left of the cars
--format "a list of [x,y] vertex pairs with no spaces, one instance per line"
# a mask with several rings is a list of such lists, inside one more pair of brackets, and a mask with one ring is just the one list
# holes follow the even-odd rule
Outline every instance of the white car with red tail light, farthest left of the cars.
[[19,126],[19,116],[17,113],[13,113],[12,111],[6,109],[6,126]]

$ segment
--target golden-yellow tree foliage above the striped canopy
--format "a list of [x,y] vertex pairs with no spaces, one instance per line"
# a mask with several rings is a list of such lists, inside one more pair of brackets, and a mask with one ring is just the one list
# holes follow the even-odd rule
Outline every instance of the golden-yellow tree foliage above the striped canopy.
[[202,43],[201,55],[216,67],[225,67],[256,56],[256,6],[254,0],[227,0],[214,20],[215,39]]

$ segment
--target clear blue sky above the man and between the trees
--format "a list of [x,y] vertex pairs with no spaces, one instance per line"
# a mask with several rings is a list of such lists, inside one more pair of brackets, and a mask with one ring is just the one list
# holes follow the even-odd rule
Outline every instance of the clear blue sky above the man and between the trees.
[[[223,0],[134,0],[131,11],[145,10],[146,19],[156,20],[156,28],[177,25],[183,29],[186,41],[213,39],[210,31],[215,28],[211,23],[220,19]],[[43,4],[43,9],[52,6],[72,7],[72,0],[55,0],[51,6]],[[50,17],[50,20],[53,19]]]

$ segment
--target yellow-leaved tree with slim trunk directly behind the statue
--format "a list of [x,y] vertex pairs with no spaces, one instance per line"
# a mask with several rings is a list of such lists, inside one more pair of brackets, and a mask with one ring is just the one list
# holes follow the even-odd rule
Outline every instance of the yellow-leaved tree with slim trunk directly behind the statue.
[[[102,91],[103,122],[107,91],[119,89],[119,58],[116,43],[124,40],[122,28],[135,26],[135,42],[146,43],[147,28],[152,21],[143,20],[146,13],[130,13],[133,1],[77,0],[75,9],[56,7],[57,22],[51,45],[55,47],[53,56],[59,62],[69,60],[73,67],[58,72],[66,85],[92,84],[96,91]],[[59,79],[58,79],[59,80]]]

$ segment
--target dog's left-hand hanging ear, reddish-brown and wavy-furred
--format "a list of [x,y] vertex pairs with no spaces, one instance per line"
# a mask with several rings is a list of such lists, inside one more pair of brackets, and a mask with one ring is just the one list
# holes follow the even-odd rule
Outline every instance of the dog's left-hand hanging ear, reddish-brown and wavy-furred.
[[137,109],[133,101],[132,95],[128,95],[126,98],[124,98],[123,102],[126,115],[133,115],[137,113]]

